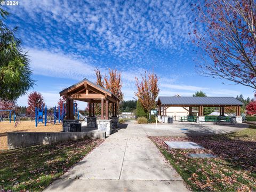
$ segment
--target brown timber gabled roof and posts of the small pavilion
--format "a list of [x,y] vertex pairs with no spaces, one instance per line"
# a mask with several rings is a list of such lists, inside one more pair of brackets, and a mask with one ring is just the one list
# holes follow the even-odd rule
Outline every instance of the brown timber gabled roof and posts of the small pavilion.
[[[112,105],[112,117],[117,117],[117,103],[120,101],[113,93],[105,88],[83,79],[60,92],[60,96],[67,98],[66,119],[74,119],[74,100],[89,103],[89,117],[95,117],[94,103],[101,103],[101,119],[109,119],[109,105]],[[104,113],[105,107],[105,113]]]

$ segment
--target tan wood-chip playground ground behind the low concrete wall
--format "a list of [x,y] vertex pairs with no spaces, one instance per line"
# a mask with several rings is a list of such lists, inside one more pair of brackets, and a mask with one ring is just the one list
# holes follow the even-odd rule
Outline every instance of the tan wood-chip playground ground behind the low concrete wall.
[[14,122],[0,122],[0,150],[7,149],[7,133],[8,132],[60,132],[62,124],[38,124],[35,121],[21,121],[17,127]]

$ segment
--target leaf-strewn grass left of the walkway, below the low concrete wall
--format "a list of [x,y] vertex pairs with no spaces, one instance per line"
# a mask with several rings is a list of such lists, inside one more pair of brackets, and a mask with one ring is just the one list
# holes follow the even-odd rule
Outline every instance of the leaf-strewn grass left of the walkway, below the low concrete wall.
[[102,140],[78,140],[0,153],[1,191],[42,191]]

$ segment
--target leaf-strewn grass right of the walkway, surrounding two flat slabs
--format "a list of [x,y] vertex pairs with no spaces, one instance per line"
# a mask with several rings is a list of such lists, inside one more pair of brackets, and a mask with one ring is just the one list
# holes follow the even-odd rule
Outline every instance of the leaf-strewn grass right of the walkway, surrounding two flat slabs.
[[[256,127],[203,137],[150,137],[194,191],[256,190]],[[170,149],[164,141],[193,141],[205,149]],[[210,153],[217,158],[191,158]]]

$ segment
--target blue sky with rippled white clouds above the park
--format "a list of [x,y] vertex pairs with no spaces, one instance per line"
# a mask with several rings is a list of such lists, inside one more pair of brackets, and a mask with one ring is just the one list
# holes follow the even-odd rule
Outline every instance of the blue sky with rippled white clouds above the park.
[[[202,90],[208,96],[253,97],[249,87],[198,75],[193,61],[197,54],[188,35],[196,25],[191,1],[18,3],[5,5],[11,13],[7,24],[19,27],[17,36],[28,51],[36,80],[34,91],[43,94],[48,106],[57,105],[63,88],[83,78],[95,81],[96,67],[102,74],[108,68],[121,71],[125,99],[134,97],[135,77],[153,68],[162,96],[191,96]],[[27,95],[18,105],[27,105]]]

